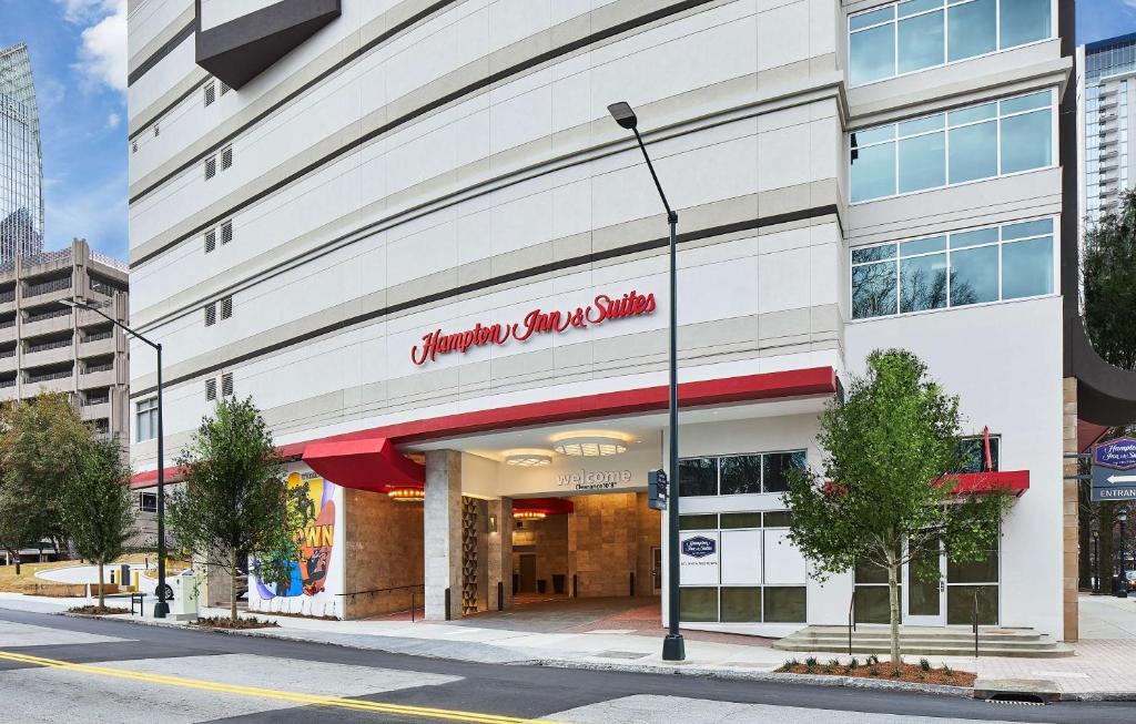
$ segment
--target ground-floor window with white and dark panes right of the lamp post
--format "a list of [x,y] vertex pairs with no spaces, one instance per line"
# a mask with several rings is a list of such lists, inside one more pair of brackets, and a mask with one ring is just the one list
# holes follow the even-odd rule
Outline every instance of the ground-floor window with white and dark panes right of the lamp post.
[[805,563],[788,541],[790,520],[788,511],[680,515],[682,530],[711,542],[713,556],[683,570],[682,621],[804,623]]

